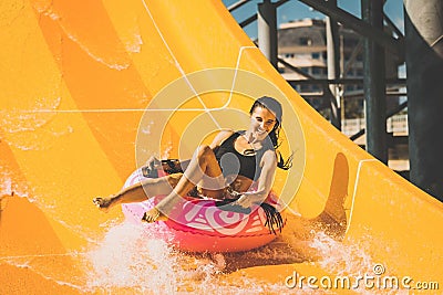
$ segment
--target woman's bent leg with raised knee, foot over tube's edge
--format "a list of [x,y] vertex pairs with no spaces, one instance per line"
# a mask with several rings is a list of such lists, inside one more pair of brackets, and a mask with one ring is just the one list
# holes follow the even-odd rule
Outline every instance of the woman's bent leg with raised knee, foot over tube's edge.
[[225,188],[222,168],[219,167],[213,149],[209,146],[200,146],[194,154],[185,173],[178,180],[173,191],[155,208],[147,211],[143,220],[154,222],[166,220],[167,213],[182,202],[197,183],[200,183],[208,197],[220,198]]

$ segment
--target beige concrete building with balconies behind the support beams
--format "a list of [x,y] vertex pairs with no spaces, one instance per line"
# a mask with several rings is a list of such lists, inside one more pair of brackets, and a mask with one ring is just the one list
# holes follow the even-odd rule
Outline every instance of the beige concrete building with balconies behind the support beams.
[[[340,36],[340,77],[354,81],[353,84],[340,85],[342,96],[342,126],[341,130],[347,136],[357,134],[364,128],[364,103],[363,103],[363,57],[361,36],[352,30],[339,27]],[[292,86],[302,97],[318,112],[328,118],[329,97],[323,95],[323,88],[328,87],[324,80],[328,78],[327,69],[327,36],[326,21],[317,19],[305,19],[282,23],[278,29],[278,56],[286,63],[299,69],[303,74],[292,71],[285,64],[279,63],[278,70],[287,81],[295,81]],[[399,59],[385,52],[385,76],[396,78],[399,75]],[[309,78],[311,77],[311,78]],[[316,83],[313,80],[322,80]],[[356,83],[358,82],[358,83]],[[388,85],[387,92],[395,93],[399,85]],[[393,109],[399,105],[399,96],[387,95],[387,109]],[[395,170],[409,170],[408,161],[408,120],[406,115],[396,115],[387,122],[390,138],[398,137],[394,144],[390,140],[389,166]],[[356,140],[364,146],[365,137]]]

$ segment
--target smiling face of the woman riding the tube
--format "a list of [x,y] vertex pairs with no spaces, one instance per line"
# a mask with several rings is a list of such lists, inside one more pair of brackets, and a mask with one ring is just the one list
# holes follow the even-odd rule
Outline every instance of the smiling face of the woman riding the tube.
[[257,106],[250,115],[249,129],[256,140],[264,140],[276,126],[276,116],[269,109]]

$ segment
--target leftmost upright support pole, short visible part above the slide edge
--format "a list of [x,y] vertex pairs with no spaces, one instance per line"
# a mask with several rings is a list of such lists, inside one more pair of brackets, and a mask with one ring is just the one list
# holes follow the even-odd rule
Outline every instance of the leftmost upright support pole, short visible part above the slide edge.
[[270,0],[258,4],[258,48],[277,69],[277,6]]

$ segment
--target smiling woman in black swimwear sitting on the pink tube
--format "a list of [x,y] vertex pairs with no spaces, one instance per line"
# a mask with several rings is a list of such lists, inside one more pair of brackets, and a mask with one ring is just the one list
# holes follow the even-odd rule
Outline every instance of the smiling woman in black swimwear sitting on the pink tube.
[[[247,130],[222,130],[210,145],[199,146],[184,172],[147,178],[107,198],[95,198],[103,211],[121,203],[141,202],[166,194],[143,220],[167,220],[184,198],[228,200],[231,208],[250,208],[265,202],[271,191],[276,169],[289,169],[291,158],[277,152],[281,128],[281,104],[272,97],[260,97],[253,104]],[[251,190],[251,187],[256,188]]]

